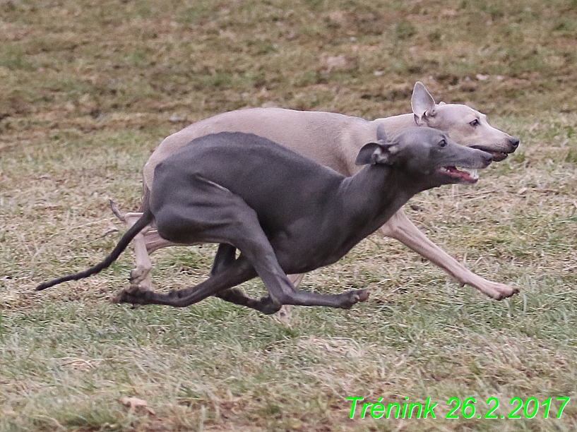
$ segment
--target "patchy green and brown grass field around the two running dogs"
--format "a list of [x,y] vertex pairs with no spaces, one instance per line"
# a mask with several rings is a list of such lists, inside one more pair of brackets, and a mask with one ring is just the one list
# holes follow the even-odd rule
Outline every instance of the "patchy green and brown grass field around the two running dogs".
[[[0,432],[577,430],[576,63],[576,0],[0,0]],[[111,304],[131,251],[32,292],[112,248],[124,227],[108,198],[138,208],[169,133],[240,107],[400,114],[416,80],[521,138],[477,185],[407,206],[513,298],[378,235],[304,280],[371,287],[369,301],[285,322],[218,299]],[[214,252],[155,253],[157,287],[203,280]],[[439,405],[435,419],[350,419],[347,397]],[[472,418],[446,419],[451,397],[475,397]],[[477,419],[489,397],[499,417],[513,397],[540,407]],[[557,397],[571,397],[560,418]]]

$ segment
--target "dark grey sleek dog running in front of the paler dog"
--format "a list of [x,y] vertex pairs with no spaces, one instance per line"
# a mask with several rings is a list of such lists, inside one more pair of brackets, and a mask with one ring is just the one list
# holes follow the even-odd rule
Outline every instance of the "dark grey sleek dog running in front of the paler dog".
[[[253,134],[204,136],[157,165],[143,216],[102,263],[37,290],[100,272],[150,224],[177,244],[220,244],[210,277],[169,294],[131,287],[119,294],[120,303],[184,307],[215,295],[263,313],[283,304],[350,308],[367,300],[367,289],[306,292],[296,289],[287,273],[335,263],[416,193],[475,183],[456,167],[477,169],[491,162],[489,153],[426,127],[408,128],[392,141],[379,128],[377,141],[357,155],[356,163],[367,167],[352,177]],[[252,299],[234,288],[257,275],[268,296]]]

